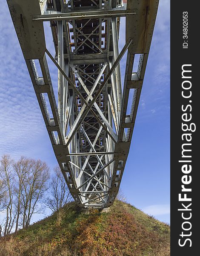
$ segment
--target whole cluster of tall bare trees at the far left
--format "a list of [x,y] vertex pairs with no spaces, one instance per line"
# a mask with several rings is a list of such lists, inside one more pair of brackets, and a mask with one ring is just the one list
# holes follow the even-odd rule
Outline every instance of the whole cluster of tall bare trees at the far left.
[[[49,167],[41,160],[20,157],[14,162],[9,155],[0,160],[0,210],[5,217],[0,223],[0,236],[18,227],[29,226],[34,213],[43,210],[42,202],[48,189]],[[15,224],[15,229],[14,229]]]

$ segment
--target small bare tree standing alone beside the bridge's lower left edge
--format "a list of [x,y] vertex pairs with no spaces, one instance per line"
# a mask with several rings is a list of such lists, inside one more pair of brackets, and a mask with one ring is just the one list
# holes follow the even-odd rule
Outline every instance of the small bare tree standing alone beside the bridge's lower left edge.
[[68,203],[71,201],[72,196],[69,192],[65,178],[63,177],[60,167],[56,166],[50,183],[49,197],[46,198],[45,204],[52,212],[56,212],[58,220],[60,218],[62,207],[66,205],[68,209],[70,207]]

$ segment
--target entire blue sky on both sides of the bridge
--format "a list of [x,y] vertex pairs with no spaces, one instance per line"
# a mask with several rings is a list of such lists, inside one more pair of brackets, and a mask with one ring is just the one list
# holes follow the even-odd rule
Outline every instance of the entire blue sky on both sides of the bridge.
[[[160,0],[146,75],[121,189],[135,207],[170,222],[170,6]],[[121,19],[120,48],[124,45]],[[54,49],[45,24],[47,48]],[[31,79],[3,1],[0,15],[0,155],[40,158],[57,164]],[[121,65],[122,78],[126,58]],[[49,62],[56,87],[57,70]],[[123,81],[123,79],[122,79]],[[55,95],[57,93],[55,92]],[[41,218],[41,216],[38,216]]]

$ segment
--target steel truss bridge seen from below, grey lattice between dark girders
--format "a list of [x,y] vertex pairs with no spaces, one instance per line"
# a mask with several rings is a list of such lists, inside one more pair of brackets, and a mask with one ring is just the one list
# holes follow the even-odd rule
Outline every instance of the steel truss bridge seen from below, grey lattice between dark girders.
[[[113,204],[129,154],[158,0],[123,2],[7,0],[55,156],[81,207]],[[123,16],[126,44],[119,52]],[[45,21],[54,57],[46,49]],[[126,51],[122,90],[119,63]],[[58,70],[57,99],[47,58]]]

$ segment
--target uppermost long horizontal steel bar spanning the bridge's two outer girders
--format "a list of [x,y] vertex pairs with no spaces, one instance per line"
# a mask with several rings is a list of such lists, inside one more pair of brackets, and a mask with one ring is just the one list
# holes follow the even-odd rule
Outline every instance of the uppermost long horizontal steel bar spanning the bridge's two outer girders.
[[[47,12],[46,12],[47,13]],[[51,20],[83,20],[96,18],[123,17],[134,15],[134,10],[109,10],[109,11],[92,11],[92,12],[57,12],[51,14],[34,15],[33,20],[51,21]]]

